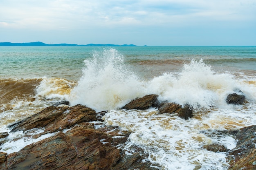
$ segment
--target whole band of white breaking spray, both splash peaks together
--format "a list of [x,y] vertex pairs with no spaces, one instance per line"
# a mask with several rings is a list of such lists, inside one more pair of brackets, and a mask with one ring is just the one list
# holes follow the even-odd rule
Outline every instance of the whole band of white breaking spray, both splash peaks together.
[[120,108],[147,94],[159,95],[160,101],[190,104],[195,110],[229,107],[225,99],[234,89],[244,91],[250,99],[256,98],[255,85],[229,73],[217,73],[202,59],[184,64],[180,73],[163,73],[150,80],[132,72],[115,49],[94,52],[84,62],[83,76],[67,98],[72,105],[85,104],[97,111]]

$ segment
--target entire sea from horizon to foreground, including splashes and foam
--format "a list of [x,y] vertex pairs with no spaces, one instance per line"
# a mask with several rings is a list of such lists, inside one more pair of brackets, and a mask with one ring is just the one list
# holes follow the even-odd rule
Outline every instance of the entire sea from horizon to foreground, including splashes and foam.
[[[227,104],[230,93],[245,103]],[[150,94],[189,104],[193,117],[121,109]],[[202,146],[232,149],[234,137],[207,134],[256,125],[256,46],[0,46],[0,132],[9,133],[0,152],[54,135],[8,126],[62,100],[107,110],[103,123],[130,131],[127,148],[141,147],[159,170],[227,170],[227,152]]]

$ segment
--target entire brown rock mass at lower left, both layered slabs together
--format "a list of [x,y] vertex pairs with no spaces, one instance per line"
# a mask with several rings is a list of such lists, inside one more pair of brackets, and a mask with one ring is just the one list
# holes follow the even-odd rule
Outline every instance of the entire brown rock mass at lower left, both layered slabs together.
[[[138,146],[124,149],[130,132],[101,123],[97,123],[100,128],[94,128],[90,121],[100,121],[105,113],[82,105],[50,106],[11,125],[12,131],[45,127],[45,133],[57,133],[9,155],[0,152],[0,169],[157,170],[154,166],[159,165],[145,161],[148,155]],[[70,130],[65,132],[64,128]]]

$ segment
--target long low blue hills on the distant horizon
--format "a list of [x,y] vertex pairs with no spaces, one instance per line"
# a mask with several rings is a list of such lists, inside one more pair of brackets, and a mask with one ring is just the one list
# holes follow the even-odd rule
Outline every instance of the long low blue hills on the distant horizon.
[[25,42],[25,43],[11,43],[11,42],[0,42],[0,46],[136,46],[133,44],[115,45],[115,44],[45,44],[43,42]]

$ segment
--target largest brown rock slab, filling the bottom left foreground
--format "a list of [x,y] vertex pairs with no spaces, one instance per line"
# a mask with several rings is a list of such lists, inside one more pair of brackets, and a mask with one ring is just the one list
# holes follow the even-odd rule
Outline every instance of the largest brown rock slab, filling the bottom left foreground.
[[[100,130],[88,128],[85,122],[74,126],[65,134],[56,135],[25,146],[22,150],[7,156],[7,163],[0,163],[2,169],[26,170],[157,170],[151,163],[142,161],[146,157],[139,152],[126,155],[120,148],[128,137],[117,130],[120,140],[118,148],[112,135]],[[113,130],[112,130],[113,132]],[[156,165],[156,164],[155,164]]]

